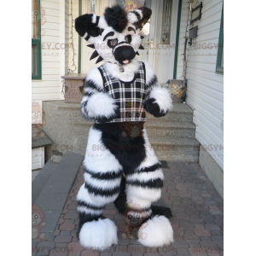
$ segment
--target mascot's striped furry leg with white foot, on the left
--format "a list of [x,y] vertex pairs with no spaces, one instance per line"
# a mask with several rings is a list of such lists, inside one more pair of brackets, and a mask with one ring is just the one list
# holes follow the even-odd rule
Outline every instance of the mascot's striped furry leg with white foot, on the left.
[[118,243],[117,227],[102,216],[106,204],[119,195],[122,166],[102,147],[102,131],[90,129],[84,158],[84,184],[77,196],[79,241],[83,247],[104,250]]

